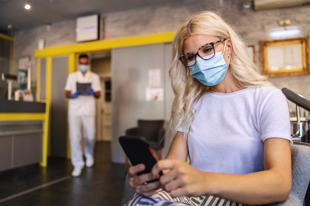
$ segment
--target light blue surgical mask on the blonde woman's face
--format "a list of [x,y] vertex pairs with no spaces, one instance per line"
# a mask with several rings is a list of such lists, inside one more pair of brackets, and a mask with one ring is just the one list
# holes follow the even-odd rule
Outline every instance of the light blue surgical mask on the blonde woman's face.
[[196,64],[189,69],[193,78],[197,79],[199,82],[207,86],[214,86],[224,80],[224,77],[228,70],[228,65],[226,64],[223,54],[220,51],[215,53],[215,55],[208,60],[197,57]]

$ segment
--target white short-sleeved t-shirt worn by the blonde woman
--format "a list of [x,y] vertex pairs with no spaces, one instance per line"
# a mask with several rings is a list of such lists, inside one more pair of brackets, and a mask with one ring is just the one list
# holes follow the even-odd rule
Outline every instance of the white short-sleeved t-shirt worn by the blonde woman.
[[209,91],[195,108],[187,141],[190,164],[200,170],[261,171],[263,142],[271,137],[291,141],[287,99],[280,89],[249,87],[227,94]]

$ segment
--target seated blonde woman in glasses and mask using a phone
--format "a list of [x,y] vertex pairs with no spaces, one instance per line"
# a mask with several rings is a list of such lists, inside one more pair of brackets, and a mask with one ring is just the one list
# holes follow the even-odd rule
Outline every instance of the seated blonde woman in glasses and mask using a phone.
[[[138,176],[142,164],[129,168],[137,194],[127,205],[285,201],[292,182],[287,101],[259,74],[245,42],[219,15],[204,11],[177,31],[172,55],[174,137],[152,173]],[[161,170],[159,181],[145,183]]]

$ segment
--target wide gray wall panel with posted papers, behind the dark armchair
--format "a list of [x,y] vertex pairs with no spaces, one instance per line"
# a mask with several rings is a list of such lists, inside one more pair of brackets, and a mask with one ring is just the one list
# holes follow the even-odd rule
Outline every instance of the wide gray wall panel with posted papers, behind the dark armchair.
[[118,137],[136,126],[138,119],[166,118],[165,107],[170,107],[170,103],[166,103],[165,97],[163,101],[146,101],[150,69],[161,70],[161,87],[165,87],[165,52],[164,44],[112,50],[112,162],[124,162]]

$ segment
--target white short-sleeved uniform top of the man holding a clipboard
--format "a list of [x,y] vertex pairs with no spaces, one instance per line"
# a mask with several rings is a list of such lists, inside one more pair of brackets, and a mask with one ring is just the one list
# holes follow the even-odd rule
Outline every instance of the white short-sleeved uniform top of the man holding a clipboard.
[[[79,83],[92,83],[92,89],[101,91],[100,77],[88,71],[85,76],[82,72],[77,71],[71,73],[68,78],[64,90],[71,91],[71,94],[76,92],[76,82]],[[75,99],[69,101],[69,116],[95,116],[96,115],[96,102],[93,95],[79,95]]]

